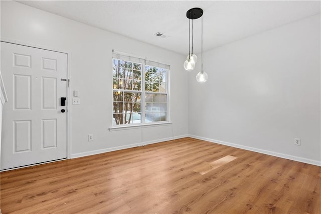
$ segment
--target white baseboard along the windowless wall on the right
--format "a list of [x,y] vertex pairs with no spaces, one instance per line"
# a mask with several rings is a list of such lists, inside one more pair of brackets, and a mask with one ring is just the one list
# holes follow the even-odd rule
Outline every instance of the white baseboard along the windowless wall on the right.
[[308,163],[308,164],[312,164],[312,165],[316,165],[316,166],[321,166],[321,162],[317,161],[317,160],[287,155],[287,154],[283,154],[283,153],[268,151],[268,150],[264,150],[264,149],[258,149],[258,148],[249,147],[249,146],[243,146],[240,144],[234,144],[234,143],[219,141],[219,140],[210,139],[210,138],[203,138],[203,137],[196,136],[196,135],[189,135],[189,137],[196,138],[199,140],[209,141],[212,143],[231,146],[231,147],[235,147],[235,148],[239,148],[239,149],[245,149],[245,150],[249,150],[249,151],[253,151],[253,152],[258,152],[258,153],[262,153],[262,154],[266,154],[266,155],[272,155],[272,156],[279,157],[279,158],[285,158],[285,159],[294,160],[294,161],[298,161],[298,162],[302,162],[302,163]]

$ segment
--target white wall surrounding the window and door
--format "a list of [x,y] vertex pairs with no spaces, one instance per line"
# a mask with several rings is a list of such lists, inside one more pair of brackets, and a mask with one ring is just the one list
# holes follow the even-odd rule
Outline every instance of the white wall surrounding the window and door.
[[[72,157],[187,136],[184,56],[7,1],[1,1],[1,39],[69,53],[70,90],[79,90],[81,103],[69,105]],[[112,49],[171,65],[172,125],[108,131],[112,122]],[[89,133],[94,134],[93,142],[87,140]]]

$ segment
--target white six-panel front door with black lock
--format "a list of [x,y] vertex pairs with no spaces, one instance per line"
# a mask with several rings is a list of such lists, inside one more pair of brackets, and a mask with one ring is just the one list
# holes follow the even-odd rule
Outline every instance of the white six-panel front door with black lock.
[[67,54],[1,42],[1,72],[1,169],[67,158]]

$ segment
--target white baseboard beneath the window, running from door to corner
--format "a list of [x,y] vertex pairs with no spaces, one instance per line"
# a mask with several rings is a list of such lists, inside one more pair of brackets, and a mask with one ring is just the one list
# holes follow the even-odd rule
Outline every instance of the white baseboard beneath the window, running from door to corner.
[[89,155],[96,155],[96,154],[101,154],[101,153],[105,153],[105,152],[112,152],[112,151],[117,151],[117,150],[121,150],[121,149],[128,149],[128,148],[133,148],[133,147],[137,147],[137,146],[144,146],[144,145],[148,145],[148,144],[160,143],[160,142],[164,142],[164,141],[171,141],[171,140],[176,140],[176,139],[186,138],[186,137],[189,137],[189,136],[188,135],[180,135],[180,136],[175,136],[175,137],[170,137],[170,138],[145,141],[145,142],[141,142],[141,143],[128,144],[128,145],[116,146],[116,147],[111,147],[111,148],[106,148],[106,149],[99,149],[99,150],[93,150],[93,151],[88,151],[88,152],[75,153],[75,154],[71,154],[71,158],[79,158],[79,157],[85,157],[85,156],[89,156]]

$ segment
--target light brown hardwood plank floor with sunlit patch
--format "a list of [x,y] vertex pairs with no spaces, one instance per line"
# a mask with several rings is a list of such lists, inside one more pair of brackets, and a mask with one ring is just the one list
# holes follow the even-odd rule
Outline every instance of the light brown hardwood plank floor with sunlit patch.
[[2,172],[7,213],[321,213],[318,166],[193,138]]

